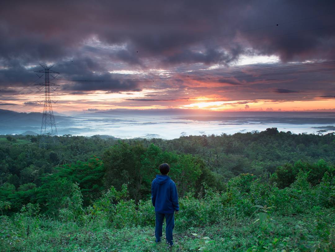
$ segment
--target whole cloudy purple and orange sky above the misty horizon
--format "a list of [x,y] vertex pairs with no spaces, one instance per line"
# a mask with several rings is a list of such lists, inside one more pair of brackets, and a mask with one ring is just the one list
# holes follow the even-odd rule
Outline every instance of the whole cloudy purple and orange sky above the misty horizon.
[[60,85],[52,90],[59,113],[335,111],[334,7],[282,0],[5,1],[0,109],[42,112],[44,90],[35,84],[44,76],[34,71],[45,64],[60,73],[50,76]]

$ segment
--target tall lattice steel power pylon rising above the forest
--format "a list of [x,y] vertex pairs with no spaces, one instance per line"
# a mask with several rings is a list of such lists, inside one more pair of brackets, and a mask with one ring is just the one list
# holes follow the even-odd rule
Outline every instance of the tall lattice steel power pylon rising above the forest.
[[[41,64],[40,64],[41,65]],[[37,73],[44,73],[45,76],[45,81],[39,84],[35,84],[38,86],[43,86],[44,87],[44,109],[43,109],[43,118],[42,118],[42,126],[41,126],[41,135],[49,135],[49,136],[54,136],[57,135],[57,128],[56,128],[56,122],[55,122],[55,117],[54,117],[54,112],[52,111],[52,104],[51,104],[51,97],[50,97],[50,86],[59,86],[58,84],[52,83],[49,80],[49,74],[50,73],[58,73],[56,71],[50,70],[54,65],[48,67],[45,65],[41,65],[44,69],[34,71]],[[51,75],[52,76],[52,75]],[[39,76],[42,77],[42,76]],[[56,78],[52,76],[53,78]],[[42,90],[42,88],[38,88]],[[57,87],[58,88],[58,87]],[[53,88],[53,90],[56,90],[57,88]],[[54,102],[54,101],[53,101]],[[40,102],[42,103],[42,102]],[[54,102],[56,103],[56,102]]]

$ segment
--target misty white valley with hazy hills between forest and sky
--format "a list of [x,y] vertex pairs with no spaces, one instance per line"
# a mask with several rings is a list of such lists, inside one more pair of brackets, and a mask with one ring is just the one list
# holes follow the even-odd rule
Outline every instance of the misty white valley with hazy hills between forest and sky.
[[[58,135],[71,134],[101,138],[179,137],[181,132],[196,135],[236,133],[241,130],[279,130],[315,133],[334,131],[334,112],[212,112],[184,109],[87,111],[77,116],[55,115]],[[22,134],[41,130],[42,113],[0,110],[0,134]],[[189,124],[189,125],[187,125]],[[313,128],[325,127],[325,128]],[[203,134],[203,133],[201,133]]]

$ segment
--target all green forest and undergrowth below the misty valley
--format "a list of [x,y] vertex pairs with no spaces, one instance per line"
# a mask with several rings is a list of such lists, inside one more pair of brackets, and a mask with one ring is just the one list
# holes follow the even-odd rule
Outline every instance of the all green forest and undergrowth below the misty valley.
[[0,136],[0,249],[165,251],[150,184],[169,163],[173,250],[335,250],[334,133],[181,135]]

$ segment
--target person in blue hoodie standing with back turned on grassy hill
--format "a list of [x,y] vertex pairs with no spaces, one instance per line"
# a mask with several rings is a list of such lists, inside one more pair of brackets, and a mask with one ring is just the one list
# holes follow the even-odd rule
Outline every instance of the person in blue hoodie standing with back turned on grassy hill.
[[155,237],[160,242],[162,237],[163,220],[166,220],[166,242],[173,246],[173,229],[175,227],[175,212],[179,211],[178,192],[175,182],[167,176],[170,166],[166,163],[159,166],[160,175],[151,184],[151,201],[155,207]]

